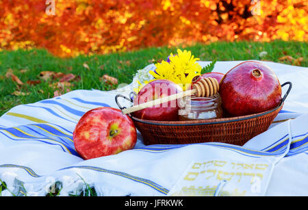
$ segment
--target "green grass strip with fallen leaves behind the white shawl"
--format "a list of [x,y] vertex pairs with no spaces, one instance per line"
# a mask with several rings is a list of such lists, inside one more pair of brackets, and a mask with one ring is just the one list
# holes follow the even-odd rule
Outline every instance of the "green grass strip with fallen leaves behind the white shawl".
[[[284,55],[290,55],[297,59],[303,57],[301,66],[308,66],[307,42],[214,42],[208,45],[196,44],[185,47],[192,51],[195,57],[201,60],[268,60],[292,64],[292,62],[279,60]],[[181,49],[184,49],[181,47]],[[268,54],[260,57],[259,53],[266,51]],[[0,52],[0,116],[12,107],[34,103],[43,99],[53,97],[55,88],[49,86],[55,81],[42,81],[38,85],[29,85],[27,81],[40,79],[42,71],[55,71],[61,73],[72,73],[79,76],[79,81],[73,81],[70,90],[92,88],[97,90],[111,90],[116,88],[110,86],[100,77],[107,74],[118,79],[118,83],[130,83],[136,70],[144,66],[164,60],[170,53],[176,53],[176,48],[157,47],[142,49],[126,53],[112,53],[110,55],[79,56],[74,58],[59,58],[51,55],[43,49],[31,51],[1,51]],[[84,64],[89,68],[85,68]],[[18,85],[5,74],[9,69],[16,75],[24,85]],[[24,96],[15,96],[13,92],[26,93]]]

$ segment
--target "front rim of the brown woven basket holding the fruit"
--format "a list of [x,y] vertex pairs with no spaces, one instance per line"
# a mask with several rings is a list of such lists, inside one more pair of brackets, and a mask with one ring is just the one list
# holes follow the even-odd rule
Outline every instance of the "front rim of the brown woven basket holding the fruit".
[[220,123],[228,123],[228,122],[237,122],[242,120],[249,120],[252,118],[258,118],[261,116],[265,116],[271,114],[277,109],[281,109],[283,107],[283,103],[280,103],[279,106],[270,109],[268,111],[259,112],[257,114],[250,114],[245,116],[231,117],[231,118],[218,118],[218,119],[208,119],[208,120],[187,120],[187,121],[156,121],[156,120],[142,120],[139,118],[135,118],[131,116],[132,120],[136,120],[137,122],[142,122],[144,124],[153,124],[153,125],[162,125],[162,126],[192,126],[192,125],[203,125],[203,124],[220,124]]

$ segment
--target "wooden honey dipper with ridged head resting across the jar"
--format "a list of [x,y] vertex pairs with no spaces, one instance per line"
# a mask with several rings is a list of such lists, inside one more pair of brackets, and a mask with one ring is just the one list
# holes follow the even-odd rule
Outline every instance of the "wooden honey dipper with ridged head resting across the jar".
[[200,81],[197,81],[192,85],[191,90],[187,90],[185,92],[179,92],[177,94],[173,94],[170,96],[166,96],[160,99],[155,99],[153,101],[148,101],[146,103],[141,103],[139,105],[135,105],[132,107],[128,107],[126,109],[122,109],[123,114],[129,114],[134,111],[138,111],[141,109],[154,107],[155,105],[159,105],[162,103],[166,103],[168,101],[173,101],[176,99],[181,99],[185,96],[197,96],[197,97],[209,97],[213,96],[219,90],[219,83],[216,78],[208,77],[203,78]]

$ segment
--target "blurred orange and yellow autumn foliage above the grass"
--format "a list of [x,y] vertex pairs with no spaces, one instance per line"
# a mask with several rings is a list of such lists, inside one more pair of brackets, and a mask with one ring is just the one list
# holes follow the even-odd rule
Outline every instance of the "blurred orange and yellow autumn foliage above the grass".
[[218,40],[308,40],[307,1],[0,1],[0,49],[61,57]]

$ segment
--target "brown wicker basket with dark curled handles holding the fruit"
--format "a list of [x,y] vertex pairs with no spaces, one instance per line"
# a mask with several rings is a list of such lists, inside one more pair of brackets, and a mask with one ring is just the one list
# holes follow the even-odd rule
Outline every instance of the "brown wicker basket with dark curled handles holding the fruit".
[[[190,121],[153,121],[134,117],[131,117],[131,119],[140,131],[146,145],[222,142],[242,146],[251,138],[266,131],[282,109],[283,102],[292,88],[292,83],[286,82],[282,86],[285,86],[285,84],[289,84],[289,89],[280,105],[259,114]],[[117,103],[118,96],[116,96]],[[127,99],[125,96],[122,97]],[[120,109],[124,109],[124,107],[120,107]]]

